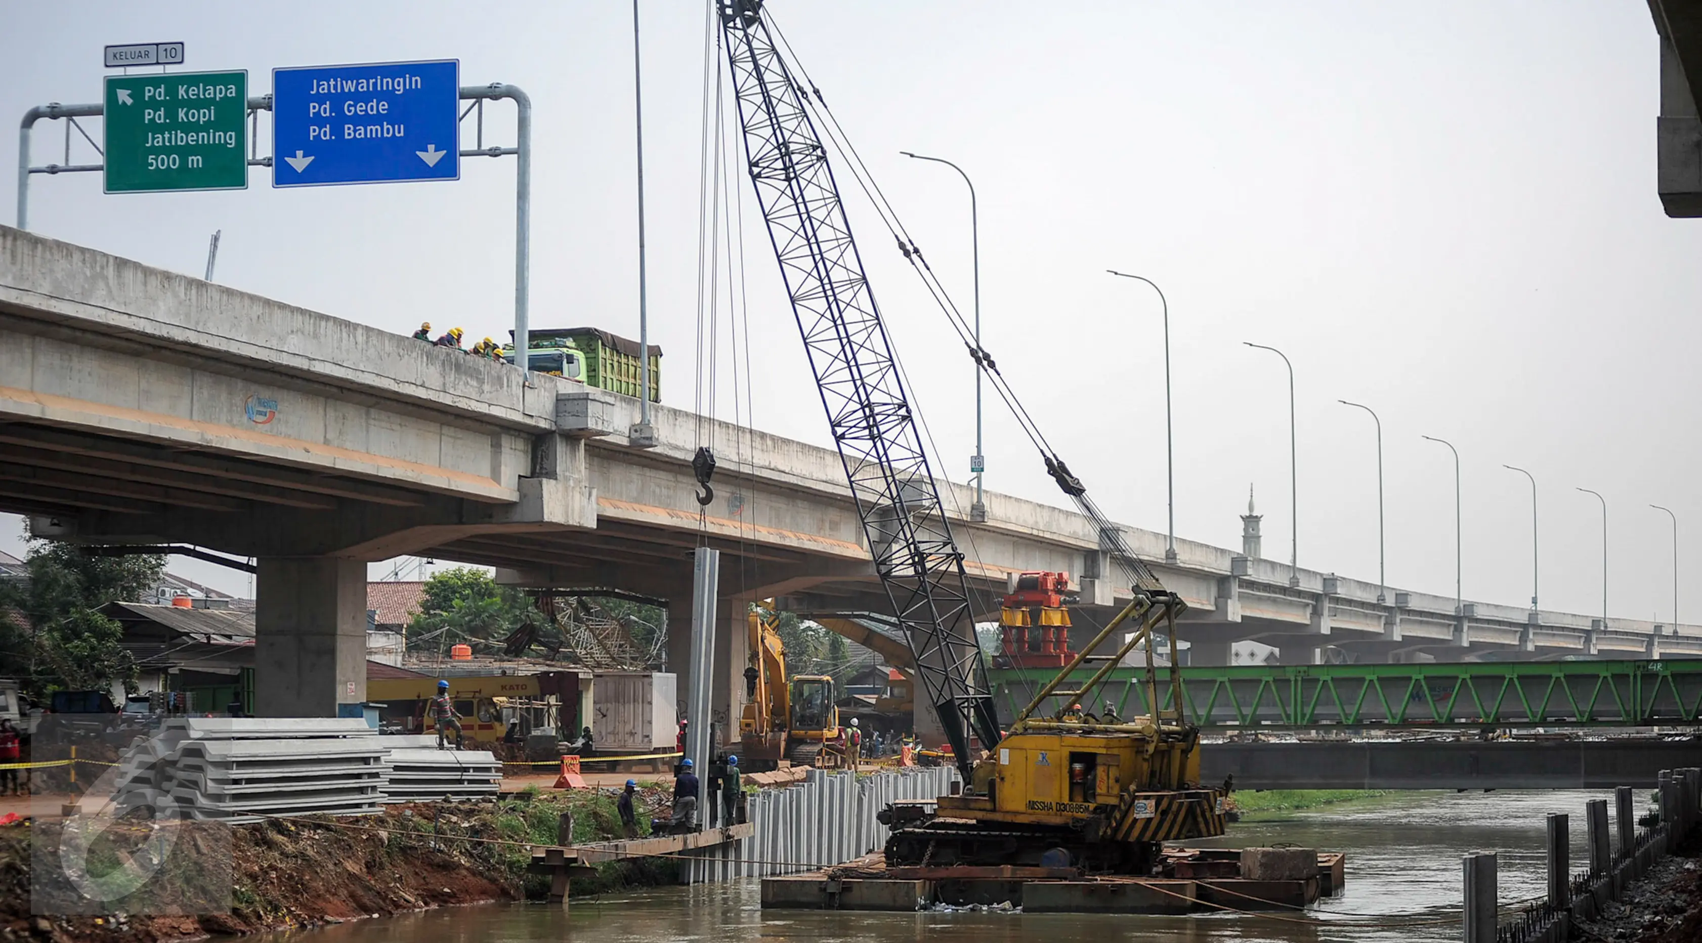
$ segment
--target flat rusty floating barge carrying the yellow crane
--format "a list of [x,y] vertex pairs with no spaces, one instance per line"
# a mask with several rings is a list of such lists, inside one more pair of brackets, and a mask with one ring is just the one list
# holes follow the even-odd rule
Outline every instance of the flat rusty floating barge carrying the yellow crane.
[[1173,848],[1152,877],[1076,868],[888,868],[880,853],[820,872],[762,878],[764,909],[924,911],[1021,907],[1026,914],[1193,914],[1305,907],[1341,894],[1339,851]]

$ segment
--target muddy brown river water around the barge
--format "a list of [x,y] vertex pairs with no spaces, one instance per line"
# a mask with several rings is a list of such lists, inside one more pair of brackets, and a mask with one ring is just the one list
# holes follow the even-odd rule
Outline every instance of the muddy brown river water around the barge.
[[[1304,812],[1263,814],[1231,826],[1227,846],[1288,843],[1346,853],[1346,890],[1283,919],[1009,912],[866,914],[768,911],[757,880],[575,899],[570,912],[541,904],[454,907],[289,934],[291,943],[1045,943],[1113,941],[1442,941],[1460,906],[1460,856],[1499,851],[1503,904],[1544,889],[1544,815],[1571,814],[1573,863],[1585,861],[1585,802],[1610,793],[1394,793]],[[1641,797],[1639,797],[1641,798]],[[1404,926],[1367,926],[1389,919]],[[1438,921],[1438,923],[1426,923]]]

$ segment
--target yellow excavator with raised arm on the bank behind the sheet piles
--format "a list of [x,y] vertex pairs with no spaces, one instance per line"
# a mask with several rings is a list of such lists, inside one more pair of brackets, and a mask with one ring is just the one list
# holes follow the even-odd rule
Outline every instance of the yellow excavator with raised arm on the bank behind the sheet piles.
[[834,706],[834,679],[825,674],[786,677],[786,647],[774,630],[773,609],[747,616],[751,664],[745,666],[745,706],[739,718],[739,764],[747,773],[793,766],[839,769],[846,764]]

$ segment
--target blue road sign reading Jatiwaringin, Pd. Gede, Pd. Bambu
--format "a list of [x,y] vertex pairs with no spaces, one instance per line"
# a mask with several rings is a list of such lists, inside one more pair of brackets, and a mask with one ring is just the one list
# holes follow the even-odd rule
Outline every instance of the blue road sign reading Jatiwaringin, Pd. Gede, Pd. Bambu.
[[272,186],[460,180],[458,60],[272,70]]

